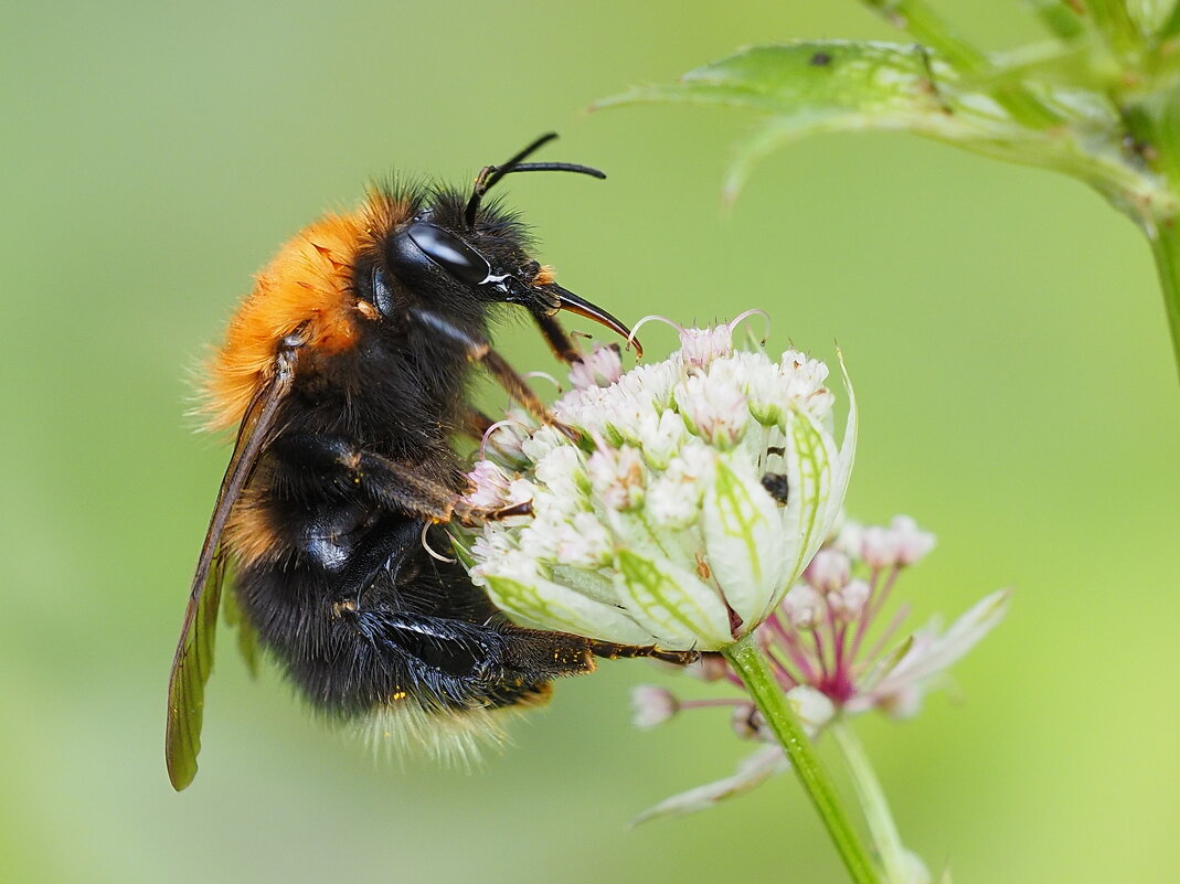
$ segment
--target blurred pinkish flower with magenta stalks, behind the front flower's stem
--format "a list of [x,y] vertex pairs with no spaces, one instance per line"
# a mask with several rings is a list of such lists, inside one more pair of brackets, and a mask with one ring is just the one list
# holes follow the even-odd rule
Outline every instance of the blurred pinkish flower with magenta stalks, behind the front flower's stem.
[[[925,693],[945,680],[946,669],[1003,617],[1008,590],[984,597],[945,630],[930,623],[902,631],[907,605],[891,611],[889,602],[905,569],[933,545],[933,535],[905,516],[879,526],[845,523],[759,627],[758,642],[778,686],[809,736],[820,735],[838,715],[879,709],[892,718],[912,716]],[[691,672],[707,681],[743,688],[721,655],[706,655]],[[687,709],[729,706],[730,727],[741,739],[771,745],[759,748],[732,777],[673,795],[638,820],[702,810],[789,768],[748,695],[680,700],[666,694],[664,715],[649,714],[648,721],[664,721]],[[635,705],[638,709],[638,699]]]

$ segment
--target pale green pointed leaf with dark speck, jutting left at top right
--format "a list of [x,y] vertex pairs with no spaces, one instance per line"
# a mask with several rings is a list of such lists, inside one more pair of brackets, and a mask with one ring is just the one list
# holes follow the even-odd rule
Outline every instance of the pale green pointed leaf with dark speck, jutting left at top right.
[[[1104,93],[1080,91],[1073,83],[1070,71],[1080,68],[1087,71],[1084,83],[1106,81],[1109,68],[1100,54],[1016,57],[1008,71],[965,45],[945,46],[955,52],[935,55],[920,46],[846,40],[755,46],[675,84],[638,87],[594,107],[678,102],[762,113],[765,122],[729,165],[727,201],[736,197],[756,159],[789,142],[820,132],[893,130],[1073,175],[1140,223],[1172,217],[1175,197],[1160,176],[1128,162],[1122,124]],[[1024,80],[1023,72],[1069,80],[1068,89]]]

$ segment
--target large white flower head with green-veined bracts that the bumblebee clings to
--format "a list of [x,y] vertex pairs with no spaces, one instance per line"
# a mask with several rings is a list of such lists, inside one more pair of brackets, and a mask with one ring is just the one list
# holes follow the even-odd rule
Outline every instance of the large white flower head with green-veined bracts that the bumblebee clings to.
[[856,405],[845,379],[838,443],[827,367],[734,349],[733,328],[682,329],[680,351],[625,374],[617,352],[591,354],[552,407],[581,443],[523,414],[490,434],[498,463],[477,465],[471,499],[532,502],[465,550],[499,608],[605,641],[715,650],[782,602],[840,512]]

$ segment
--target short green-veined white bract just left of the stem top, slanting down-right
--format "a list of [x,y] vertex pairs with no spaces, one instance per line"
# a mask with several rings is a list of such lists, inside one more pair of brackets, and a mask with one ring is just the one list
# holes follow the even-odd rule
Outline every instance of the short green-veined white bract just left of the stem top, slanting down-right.
[[733,642],[729,615],[712,587],[658,556],[617,555],[618,601],[666,648],[716,650]]

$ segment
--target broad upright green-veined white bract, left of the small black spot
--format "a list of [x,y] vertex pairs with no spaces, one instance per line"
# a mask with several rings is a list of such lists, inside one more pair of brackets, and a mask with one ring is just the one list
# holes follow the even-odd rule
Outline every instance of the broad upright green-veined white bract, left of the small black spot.
[[749,631],[774,607],[787,579],[779,505],[748,461],[719,457],[701,513],[704,551],[726,602]]

